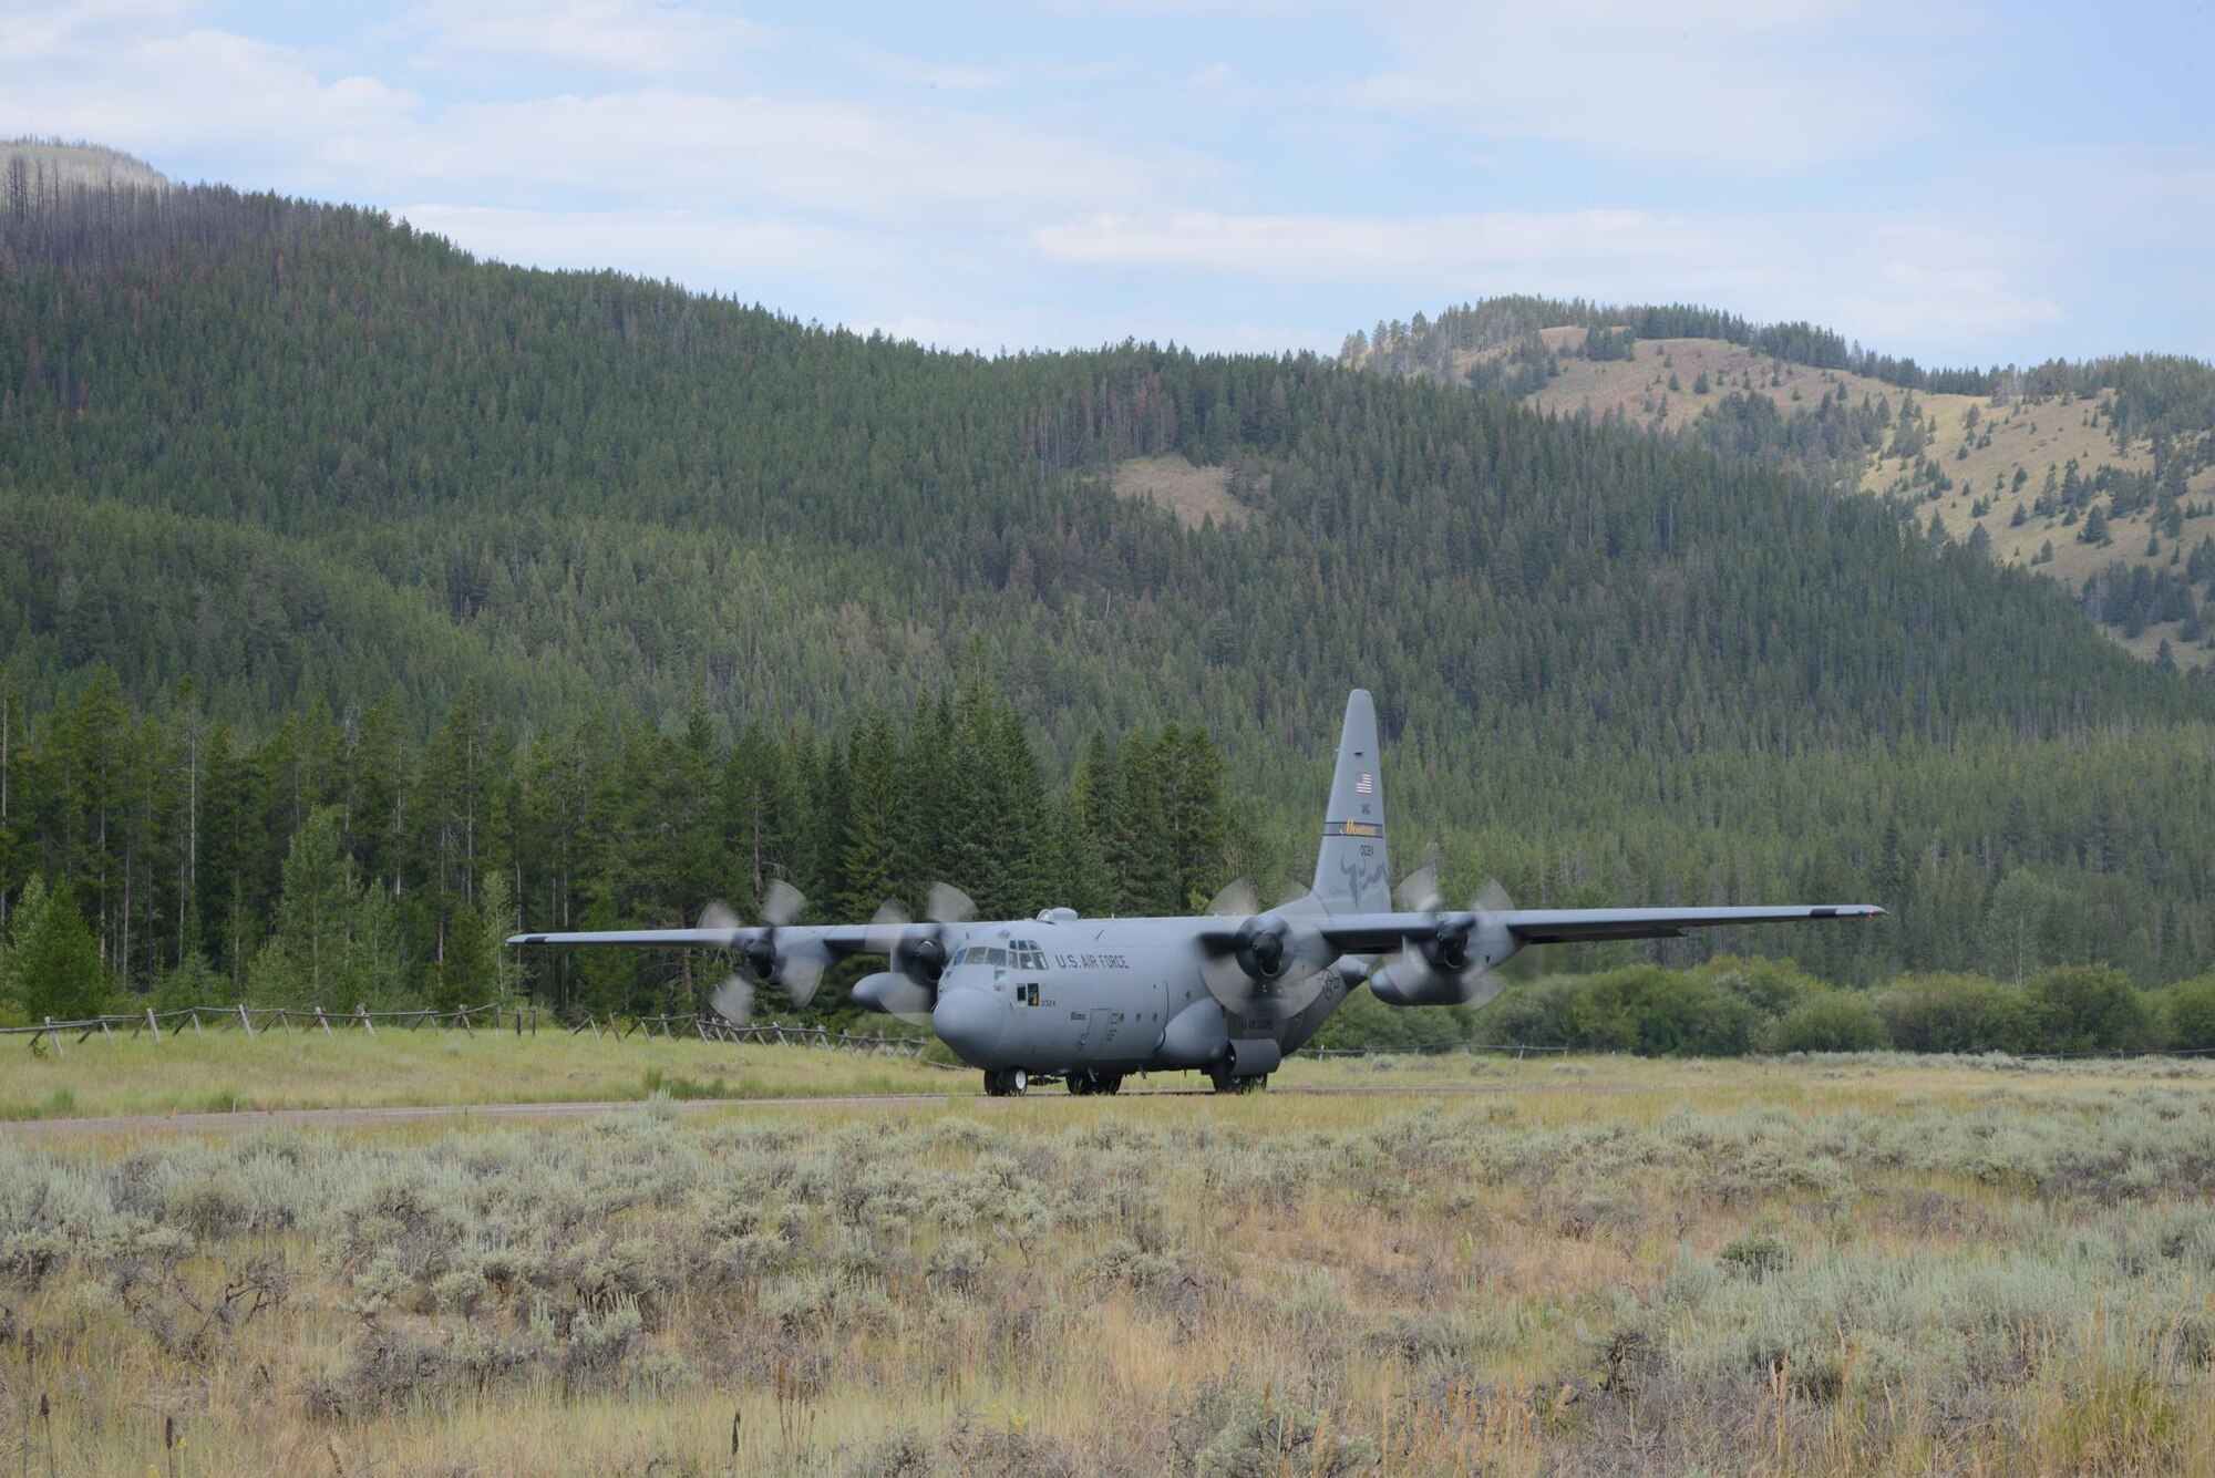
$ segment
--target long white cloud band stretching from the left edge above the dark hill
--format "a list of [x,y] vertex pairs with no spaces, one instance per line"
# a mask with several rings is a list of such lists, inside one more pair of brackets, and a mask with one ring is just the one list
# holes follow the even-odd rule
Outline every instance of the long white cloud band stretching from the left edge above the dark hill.
[[[587,44],[587,31],[563,33],[565,18],[600,9],[618,7],[558,13],[547,44]],[[498,9],[485,24],[505,38],[512,22]],[[671,24],[682,33],[693,22],[678,13]],[[664,40],[638,40],[629,62],[667,60]],[[1201,170],[1174,150],[1141,157],[1019,117],[879,100],[653,84],[434,106],[368,75],[323,80],[299,51],[248,35],[73,15],[0,40],[0,128],[82,135],[157,166],[164,155],[217,153],[235,184],[350,199],[678,204],[718,217],[800,210],[972,230],[1021,228],[1034,212],[1141,208]]]

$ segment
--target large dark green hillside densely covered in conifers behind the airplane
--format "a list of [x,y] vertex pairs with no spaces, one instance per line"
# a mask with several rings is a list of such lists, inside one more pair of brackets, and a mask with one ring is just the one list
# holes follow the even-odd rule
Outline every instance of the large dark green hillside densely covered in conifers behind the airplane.
[[[1240,516],[1116,496],[1132,458],[1209,469]],[[618,746],[594,735],[682,735],[718,774],[749,732],[795,766],[851,754],[864,715],[921,724],[968,664],[1026,717],[1041,794],[1094,735],[1212,735],[1240,841],[1185,901],[1232,867],[1307,874],[1362,684],[1400,865],[1438,839],[1455,887],[1898,909],[1765,940],[1845,980],[1982,962],[2018,916],[2047,958],[2149,982],[2215,956],[2215,690],[1876,498],[1313,356],[939,354],[219,188],[7,208],[0,659],[11,766],[73,752],[106,666],[100,701],[135,712],[164,794],[215,763],[179,735],[228,724],[239,763],[281,770],[290,726],[401,746],[379,763],[425,805],[456,712],[498,757],[487,794],[521,797],[547,746]],[[69,876],[133,985],[195,938],[250,974],[279,843],[337,803],[257,801],[257,892],[224,945],[206,885],[182,929],[128,923],[179,905],[137,892],[168,887],[151,872],[91,903],[82,781],[47,794],[66,819],[0,808],[0,894]],[[144,814],[159,870],[197,870],[175,803]],[[334,836],[357,887],[452,845],[377,854],[343,805]],[[704,903],[698,876],[614,863],[543,889],[525,836],[487,856],[523,867],[532,925]],[[859,901],[831,883],[820,903]],[[401,929],[419,989],[470,905]]]

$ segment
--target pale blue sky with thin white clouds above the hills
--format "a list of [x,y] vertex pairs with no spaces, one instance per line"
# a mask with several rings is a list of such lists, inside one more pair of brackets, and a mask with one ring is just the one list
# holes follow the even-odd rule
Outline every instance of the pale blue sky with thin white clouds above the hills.
[[0,137],[986,352],[1539,292],[2215,358],[2215,0],[0,0]]

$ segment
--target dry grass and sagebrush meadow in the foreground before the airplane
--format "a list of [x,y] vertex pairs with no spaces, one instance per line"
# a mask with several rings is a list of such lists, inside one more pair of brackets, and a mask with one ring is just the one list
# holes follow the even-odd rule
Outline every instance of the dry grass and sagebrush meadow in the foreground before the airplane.
[[[667,1080],[698,1047],[642,1055]],[[851,1062],[720,1051],[762,1082]],[[392,1069],[321,1062],[332,1100]],[[2215,1471],[2208,1069],[933,1080],[0,1131],[0,1471]]]

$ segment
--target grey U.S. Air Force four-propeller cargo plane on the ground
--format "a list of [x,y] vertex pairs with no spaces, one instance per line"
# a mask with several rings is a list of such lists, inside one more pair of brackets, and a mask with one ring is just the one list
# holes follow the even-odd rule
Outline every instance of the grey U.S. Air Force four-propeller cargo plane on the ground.
[[[1021,1093],[1059,1078],[1072,1093],[1114,1093],[1127,1073],[1205,1071],[1218,1093],[1263,1086],[1347,993],[1393,1007],[1484,1005],[1500,993],[1493,967],[1524,945],[1679,938],[1719,925],[1876,918],[1869,903],[1706,909],[1517,909],[1497,885],[1469,909],[1442,909],[1438,874],[1422,867],[1391,907],[1384,854],[1384,770],[1369,693],[1347,697],[1331,774],[1331,805],[1307,894],[1260,909],[1245,883],[1205,916],[972,920],[957,889],[930,889],[930,920],[886,905],[866,925],[795,925],[802,898],[775,885],[771,923],[702,918],[698,929],[518,934],[509,945],[689,945],[729,949],[753,980],[804,1002],[846,956],[884,956],[853,998],[928,1022],[986,1093]],[[1391,956],[1380,962],[1382,956]],[[751,985],[733,976],[715,1009],[742,1020]]]

